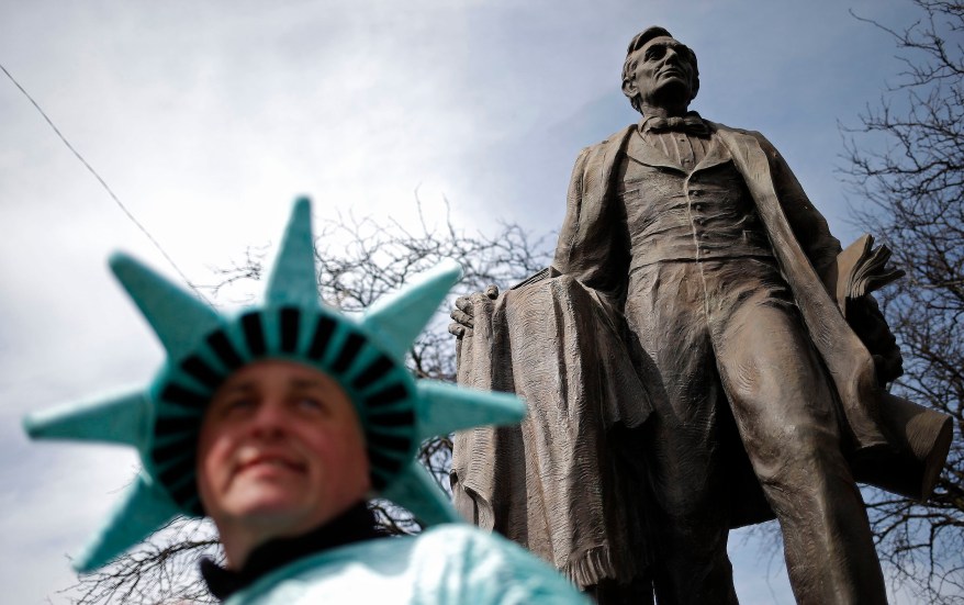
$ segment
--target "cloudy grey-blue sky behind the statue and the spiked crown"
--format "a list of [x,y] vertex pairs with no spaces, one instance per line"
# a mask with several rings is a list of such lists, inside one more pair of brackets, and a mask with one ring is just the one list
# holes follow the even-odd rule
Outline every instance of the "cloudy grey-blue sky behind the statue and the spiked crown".
[[[404,7],[404,8],[400,8]],[[0,1],[0,63],[191,281],[277,242],[291,200],[466,228],[557,229],[579,150],[638,116],[628,41],[666,26],[698,55],[693,109],[761,131],[844,245],[838,121],[855,124],[899,63],[879,0]],[[54,603],[76,551],[131,478],[110,447],[29,445],[26,412],[145,383],[160,348],[105,259],[173,275],[0,75],[0,585]],[[853,200],[854,203],[857,200]],[[744,603],[792,603],[777,561],[731,540]],[[771,573],[772,572],[772,573]]]

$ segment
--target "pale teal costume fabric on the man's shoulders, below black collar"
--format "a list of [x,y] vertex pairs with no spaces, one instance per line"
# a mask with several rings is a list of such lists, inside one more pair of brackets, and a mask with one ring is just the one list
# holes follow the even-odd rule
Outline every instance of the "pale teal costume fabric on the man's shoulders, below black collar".
[[520,546],[466,524],[357,542],[305,557],[234,593],[225,605],[584,604]]

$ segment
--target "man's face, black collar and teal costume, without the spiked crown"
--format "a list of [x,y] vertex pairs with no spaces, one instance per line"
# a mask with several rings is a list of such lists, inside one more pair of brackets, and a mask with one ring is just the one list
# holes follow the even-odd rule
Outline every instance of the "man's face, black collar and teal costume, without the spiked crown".
[[227,561],[202,562],[211,592],[229,603],[582,603],[520,548],[464,526],[382,535],[366,506],[366,441],[323,372],[270,359],[228,377],[198,442],[198,490]]

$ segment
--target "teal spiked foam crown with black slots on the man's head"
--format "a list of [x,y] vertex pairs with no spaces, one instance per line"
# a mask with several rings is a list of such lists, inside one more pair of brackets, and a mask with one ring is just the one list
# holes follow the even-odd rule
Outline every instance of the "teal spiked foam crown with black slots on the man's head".
[[515,395],[415,381],[405,351],[459,280],[446,261],[352,318],[318,298],[311,204],[296,200],[261,304],[222,314],[137,260],[110,266],[157,334],[165,365],[144,389],[24,418],[34,439],[108,441],[137,449],[136,480],[87,548],[78,571],[104,565],[178,515],[201,516],[195,486],[198,430],[208,402],[233,371],[258,359],[298,361],[332,376],[356,406],[372,485],[427,525],[459,520],[415,461],[422,440],[486,424],[516,423]]

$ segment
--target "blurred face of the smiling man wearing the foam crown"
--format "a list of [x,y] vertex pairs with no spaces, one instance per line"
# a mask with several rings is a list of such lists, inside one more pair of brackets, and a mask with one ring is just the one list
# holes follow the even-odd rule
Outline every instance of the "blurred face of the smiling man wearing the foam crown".
[[258,361],[214,394],[198,439],[198,490],[218,528],[295,536],[327,523],[370,488],[355,407],[328,376]]

